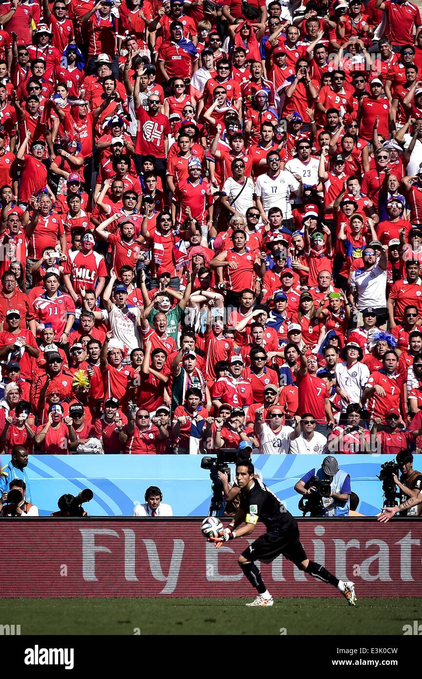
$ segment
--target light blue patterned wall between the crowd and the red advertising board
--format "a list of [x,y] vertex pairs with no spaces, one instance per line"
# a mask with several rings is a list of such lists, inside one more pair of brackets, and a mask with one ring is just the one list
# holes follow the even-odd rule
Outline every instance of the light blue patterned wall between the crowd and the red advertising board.
[[[321,466],[322,455],[254,455],[253,462],[264,483],[286,505],[301,516],[297,505],[301,496],[294,484],[310,469]],[[381,482],[376,478],[380,465],[391,455],[337,455],[339,468],[350,475],[351,490],[358,494],[358,511],[373,516],[383,506]],[[132,516],[134,507],[145,502],[149,485],[158,485],[163,502],[175,516],[206,516],[210,506],[211,481],[201,469],[201,456],[173,455],[31,455],[26,473],[31,482],[31,501],[41,516],[57,511],[57,500],[64,493],[77,495],[91,488],[94,499],[87,505],[90,516]],[[1,463],[9,462],[3,456]],[[231,478],[234,478],[234,466]]]

